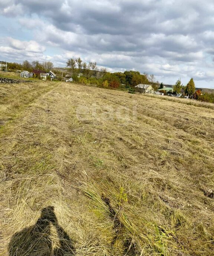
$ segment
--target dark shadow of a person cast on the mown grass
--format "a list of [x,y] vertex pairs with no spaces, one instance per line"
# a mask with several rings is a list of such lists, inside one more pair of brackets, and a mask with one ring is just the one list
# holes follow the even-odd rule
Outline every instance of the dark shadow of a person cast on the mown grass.
[[[58,246],[53,249],[51,225],[58,235]],[[74,256],[73,241],[59,226],[54,208],[43,208],[36,223],[15,233],[8,246],[9,256]]]

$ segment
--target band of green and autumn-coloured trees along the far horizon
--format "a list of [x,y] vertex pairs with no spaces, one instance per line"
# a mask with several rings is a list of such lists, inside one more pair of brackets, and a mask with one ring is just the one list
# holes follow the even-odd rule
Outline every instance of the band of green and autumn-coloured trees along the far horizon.
[[[53,70],[53,63],[51,61],[45,61],[40,63],[37,61],[32,61],[31,63],[27,60],[23,61],[22,64],[18,63],[8,63],[9,70],[20,70],[24,69],[27,71],[32,71],[33,69],[40,69],[44,71]],[[134,93],[134,87],[137,84],[148,84],[153,87],[156,91],[157,89],[163,89],[163,83],[156,81],[155,76],[149,75],[147,73],[140,74],[139,71],[124,71],[122,72],[107,72],[106,68],[98,68],[96,62],[86,63],[78,58],[70,58],[67,61],[67,70],[62,71],[60,68],[54,68],[54,72],[62,77],[62,72],[64,75],[70,74],[70,77],[76,83],[82,84],[94,84],[98,87],[110,88],[110,89],[125,89],[130,93]],[[201,90],[195,90],[195,83],[193,78],[189,80],[186,86],[181,83],[181,79],[178,79],[173,86],[173,93],[180,94],[183,90],[183,95],[191,97],[196,100],[212,102],[214,103],[213,93],[202,93]],[[160,90],[166,94],[166,91]],[[171,92],[172,93],[172,92]]]

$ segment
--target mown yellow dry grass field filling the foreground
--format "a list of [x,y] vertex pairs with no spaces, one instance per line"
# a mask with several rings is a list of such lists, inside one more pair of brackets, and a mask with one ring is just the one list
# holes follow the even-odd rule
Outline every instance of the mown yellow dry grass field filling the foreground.
[[214,110],[0,85],[0,256],[211,256]]

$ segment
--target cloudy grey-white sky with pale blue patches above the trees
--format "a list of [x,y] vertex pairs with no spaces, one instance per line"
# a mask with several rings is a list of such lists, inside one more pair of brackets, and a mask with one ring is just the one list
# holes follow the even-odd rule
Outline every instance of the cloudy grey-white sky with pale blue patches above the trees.
[[0,0],[0,60],[72,57],[214,88],[214,0]]

